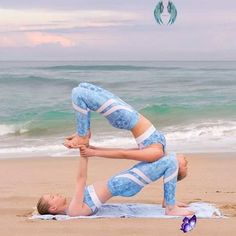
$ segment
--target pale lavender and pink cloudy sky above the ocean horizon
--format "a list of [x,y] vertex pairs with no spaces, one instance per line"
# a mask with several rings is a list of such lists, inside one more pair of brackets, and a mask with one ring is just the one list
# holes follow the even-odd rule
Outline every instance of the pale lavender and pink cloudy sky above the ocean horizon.
[[173,25],[157,3],[1,0],[0,60],[236,60],[235,0],[173,0]]

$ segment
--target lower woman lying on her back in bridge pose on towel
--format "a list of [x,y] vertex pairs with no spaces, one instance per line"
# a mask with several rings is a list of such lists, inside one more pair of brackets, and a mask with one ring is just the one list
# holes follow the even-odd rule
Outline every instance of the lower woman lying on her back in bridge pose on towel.
[[86,147],[80,147],[79,170],[75,195],[70,202],[60,195],[43,195],[37,204],[40,214],[67,214],[88,216],[95,214],[102,204],[115,196],[131,197],[139,193],[151,182],[163,177],[165,213],[186,216],[194,212],[175,200],[177,180],[187,175],[187,161],[183,156],[169,154],[155,162],[139,162],[128,170],[111,178],[86,186],[87,163]]

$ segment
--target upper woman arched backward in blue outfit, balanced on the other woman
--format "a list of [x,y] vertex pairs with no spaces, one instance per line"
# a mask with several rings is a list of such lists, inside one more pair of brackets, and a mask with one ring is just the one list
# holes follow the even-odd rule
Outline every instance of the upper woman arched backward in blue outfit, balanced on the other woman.
[[152,123],[130,105],[111,92],[89,83],[80,83],[72,90],[72,105],[76,112],[77,133],[68,137],[64,145],[78,148],[88,146],[90,138],[90,113],[96,111],[118,129],[130,130],[138,144],[136,149],[96,150],[107,158],[132,159],[152,162],[164,156],[166,141]]

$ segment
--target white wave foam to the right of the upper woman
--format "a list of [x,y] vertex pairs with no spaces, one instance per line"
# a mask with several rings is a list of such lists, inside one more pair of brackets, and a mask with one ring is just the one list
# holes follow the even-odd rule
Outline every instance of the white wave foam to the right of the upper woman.
[[235,152],[236,122],[208,121],[165,129],[167,146],[181,152]]

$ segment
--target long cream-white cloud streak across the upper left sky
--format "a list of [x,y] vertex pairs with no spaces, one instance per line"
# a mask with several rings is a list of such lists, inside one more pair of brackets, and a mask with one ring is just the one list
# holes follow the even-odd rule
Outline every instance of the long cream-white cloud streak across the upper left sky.
[[0,32],[25,32],[73,28],[101,28],[132,24],[139,18],[129,11],[105,10],[14,10],[0,9]]

